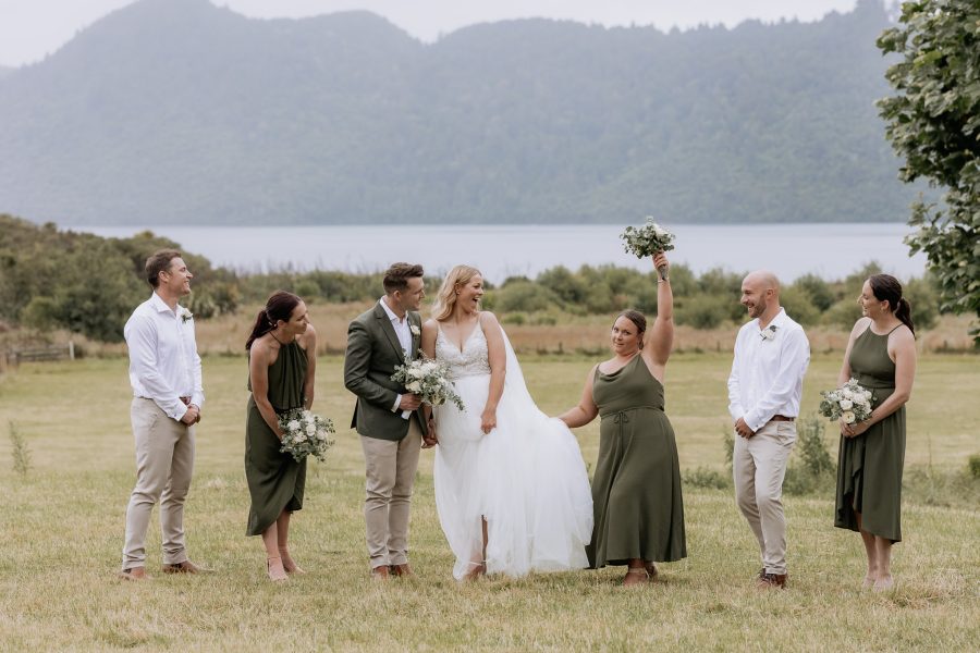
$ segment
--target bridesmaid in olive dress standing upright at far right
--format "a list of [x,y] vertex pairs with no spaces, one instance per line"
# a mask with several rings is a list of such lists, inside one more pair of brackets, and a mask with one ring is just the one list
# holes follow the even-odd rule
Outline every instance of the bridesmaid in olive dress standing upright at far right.
[[892,544],[902,541],[902,468],[905,403],[916,374],[915,326],[902,284],[890,274],[870,276],[858,304],[865,317],[850,332],[837,378],[852,377],[874,393],[871,417],[841,422],[834,526],[861,533],[868,555],[865,587],[892,588]]

